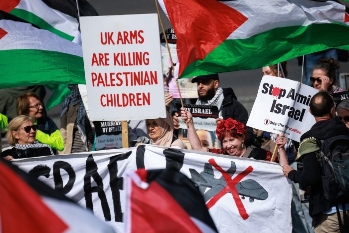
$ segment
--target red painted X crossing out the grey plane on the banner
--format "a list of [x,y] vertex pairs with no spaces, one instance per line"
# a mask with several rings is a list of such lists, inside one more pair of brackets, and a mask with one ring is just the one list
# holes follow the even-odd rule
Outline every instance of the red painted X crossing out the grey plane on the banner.
[[214,196],[213,198],[211,198],[206,206],[207,209],[209,210],[211,207],[214,206],[214,204],[216,204],[218,202],[218,200],[223,197],[226,193],[231,192],[233,199],[235,201],[235,205],[239,211],[240,216],[242,217],[243,220],[248,219],[249,215],[246,212],[246,209],[239,197],[239,193],[236,190],[236,184],[239,183],[244,177],[246,177],[250,172],[253,171],[253,168],[251,166],[249,166],[248,168],[246,168],[243,172],[241,172],[240,174],[238,174],[234,179],[231,179],[229,174],[227,172],[225,172],[217,163],[216,161],[214,161],[214,159],[210,159],[208,160],[208,162],[215,168],[217,169],[223,176],[224,180],[227,183],[227,186],[220,191],[216,196]]

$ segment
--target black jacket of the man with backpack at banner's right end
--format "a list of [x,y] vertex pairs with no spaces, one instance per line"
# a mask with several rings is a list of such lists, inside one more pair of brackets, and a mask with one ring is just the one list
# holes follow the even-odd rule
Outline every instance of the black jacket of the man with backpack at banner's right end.
[[[338,117],[335,117],[315,123],[308,132],[301,136],[301,141],[310,137],[326,140],[330,137],[348,134],[349,131],[346,125]],[[302,147],[302,144],[300,147]],[[325,199],[323,194],[319,153],[320,150],[303,155],[303,170],[291,171],[288,174],[288,178],[291,181],[299,183],[303,187],[311,187],[309,215],[313,218],[313,226],[317,224],[317,214],[328,211],[333,206],[333,204]]]

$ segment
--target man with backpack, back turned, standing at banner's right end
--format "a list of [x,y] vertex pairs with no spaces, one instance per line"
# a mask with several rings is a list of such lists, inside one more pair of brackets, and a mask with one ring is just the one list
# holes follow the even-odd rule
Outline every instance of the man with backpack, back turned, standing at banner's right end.
[[[312,225],[316,233],[340,232],[339,220],[336,208],[324,196],[323,181],[321,173],[320,148],[317,140],[348,135],[346,125],[334,117],[335,103],[331,95],[326,91],[320,91],[310,100],[310,112],[316,123],[313,127],[301,136],[301,144],[297,159],[302,160],[303,170],[295,171],[288,165],[283,166],[285,177],[303,187],[310,186],[309,215],[313,218]],[[346,204],[349,209],[349,204]],[[343,219],[343,211],[341,212]],[[348,216],[348,214],[347,214]]]

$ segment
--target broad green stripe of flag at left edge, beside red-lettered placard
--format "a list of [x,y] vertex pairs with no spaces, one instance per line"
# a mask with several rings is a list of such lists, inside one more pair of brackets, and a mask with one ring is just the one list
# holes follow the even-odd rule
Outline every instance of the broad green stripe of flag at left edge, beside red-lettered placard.
[[85,84],[83,58],[67,53],[15,49],[1,50],[1,88],[38,84]]

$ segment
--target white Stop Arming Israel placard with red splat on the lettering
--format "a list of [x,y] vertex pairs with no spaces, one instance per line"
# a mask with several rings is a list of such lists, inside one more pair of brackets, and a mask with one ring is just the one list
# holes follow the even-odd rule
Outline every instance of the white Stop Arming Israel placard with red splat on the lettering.
[[310,99],[317,89],[292,81],[264,75],[247,125],[272,133],[283,133],[300,142],[301,135],[315,124],[309,112]]

